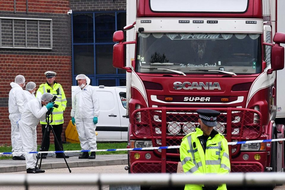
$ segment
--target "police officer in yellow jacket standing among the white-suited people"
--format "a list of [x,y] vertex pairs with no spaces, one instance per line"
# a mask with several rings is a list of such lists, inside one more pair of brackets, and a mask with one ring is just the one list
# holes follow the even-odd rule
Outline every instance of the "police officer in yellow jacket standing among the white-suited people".
[[[62,86],[55,81],[56,72],[47,71],[45,72],[45,76],[47,78],[47,82],[39,86],[36,98],[40,98],[40,96],[46,92],[52,94],[53,96],[57,96],[55,104],[58,105],[58,108],[54,107],[53,109],[53,121],[50,123],[50,125],[53,126],[53,130],[58,140],[58,143],[63,150],[63,145],[61,142],[61,133],[62,133],[62,125],[64,123],[63,112],[66,108],[67,101]],[[40,124],[42,124],[42,133],[44,133],[45,126],[47,125],[47,123],[45,121],[40,121]],[[48,151],[49,147],[50,147],[50,131],[47,132],[47,138],[45,139],[45,147],[42,149],[42,151]],[[60,147],[58,147],[57,143],[55,143],[55,151],[60,151]],[[46,155],[47,154],[43,154],[42,158],[45,159]],[[63,158],[63,155],[64,154],[62,153],[58,153],[56,154],[56,158]],[[65,158],[69,158],[69,156],[67,155],[64,156]]]

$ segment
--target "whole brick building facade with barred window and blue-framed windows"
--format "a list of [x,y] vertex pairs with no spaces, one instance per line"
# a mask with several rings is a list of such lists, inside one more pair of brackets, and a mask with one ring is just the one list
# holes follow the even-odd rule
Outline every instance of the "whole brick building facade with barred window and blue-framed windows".
[[[113,33],[125,25],[126,0],[0,0],[0,145],[11,145],[8,97],[16,75],[38,88],[45,71],[57,73],[67,99],[64,129],[77,74],[91,85],[125,85],[126,73],[112,66]],[[37,134],[39,144],[41,127]]]

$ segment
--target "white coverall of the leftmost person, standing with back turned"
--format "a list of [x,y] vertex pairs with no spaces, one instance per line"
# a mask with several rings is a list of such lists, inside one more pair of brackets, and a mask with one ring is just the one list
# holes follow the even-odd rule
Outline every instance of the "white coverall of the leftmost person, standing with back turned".
[[12,89],[9,92],[9,119],[11,121],[11,142],[13,156],[21,156],[17,152],[23,151],[22,137],[20,136],[19,126],[17,122],[20,120],[27,103],[24,90],[17,83],[10,83]]

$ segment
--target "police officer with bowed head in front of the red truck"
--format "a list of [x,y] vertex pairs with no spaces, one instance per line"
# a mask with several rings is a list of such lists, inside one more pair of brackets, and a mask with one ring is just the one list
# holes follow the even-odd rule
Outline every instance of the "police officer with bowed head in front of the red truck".
[[[214,130],[217,125],[216,110],[199,109],[198,126],[195,132],[187,134],[180,146],[180,159],[184,172],[191,174],[227,174],[230,171],[227,140]],[[226,190],[226,184],[186,184],[185,190]]]

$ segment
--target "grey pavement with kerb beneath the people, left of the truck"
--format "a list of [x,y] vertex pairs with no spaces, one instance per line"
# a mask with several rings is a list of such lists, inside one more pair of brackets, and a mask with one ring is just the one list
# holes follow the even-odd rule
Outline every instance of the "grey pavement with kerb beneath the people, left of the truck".
[[[78,159],[79,153],[66,153],[66,155],[71,156],[66,159],[70,168],[128,164],[127,154],[96,155],[96,159]],[[47,157],[47,159],[42,159],[41,169],[47,170],[56,168],[67,168],[63,158]],[[0,173],[21,171],[26,171],[25,160],[0,160]]]

